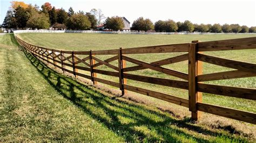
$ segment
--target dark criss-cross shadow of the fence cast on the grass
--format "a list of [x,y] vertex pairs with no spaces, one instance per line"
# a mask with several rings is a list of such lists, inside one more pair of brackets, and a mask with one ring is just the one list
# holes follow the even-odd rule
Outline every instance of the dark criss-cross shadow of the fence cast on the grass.
[[[132,104],[122,99],[111,98],[100,94],[85,85],[72,80],[72,78],[58,74],[47,68],[44,63],[37,60],[31,53],[23,50],[31,64],[39,73],[66,99],[83,109],[83,111],[103,123],[109,130],[123,137],[126,141],[184,141],[194,140],[197,142],[208,142],[185,130],[201,133],[210,137],[221,137],[233,139],[231,135],[206,130],[196,124],[191,124],[190,119],[179,120],[171,118],[163,112],[144,108],[142,105]],[[127,118],[127,121],[125,121]],[[158,118],[158,121],[153,118]],[[236,139],[242,141],[240,139]]]

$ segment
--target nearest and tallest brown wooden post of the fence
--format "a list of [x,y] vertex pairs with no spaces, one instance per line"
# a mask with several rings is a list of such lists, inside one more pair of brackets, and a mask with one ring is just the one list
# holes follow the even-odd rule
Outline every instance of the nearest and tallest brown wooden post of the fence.
[[197,102],[202,101],[202,94],[197,91],[196,76],[202,73],[202,63],[197,61],[197,42],[192,41],[188,49],[188,99],[193,120],[198,120],[202,113],[197,109]]

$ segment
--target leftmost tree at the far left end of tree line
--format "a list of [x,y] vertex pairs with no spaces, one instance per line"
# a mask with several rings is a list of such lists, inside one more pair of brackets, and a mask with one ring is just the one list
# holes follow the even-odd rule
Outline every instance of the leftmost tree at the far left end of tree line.
[[8,29],[17,27],[17,21],[14,17],[14,12],[12,10],[8,10],[6,12],[6,16],[4,18],[4,22],[2,26]]

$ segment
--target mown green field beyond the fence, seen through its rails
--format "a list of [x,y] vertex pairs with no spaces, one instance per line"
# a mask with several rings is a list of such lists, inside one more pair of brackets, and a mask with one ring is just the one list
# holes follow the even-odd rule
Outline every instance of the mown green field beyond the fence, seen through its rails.
[[[38,46],[44,46],[48,48],[65,49],[70,51],[89,51],[92,50],[103,50],[103,49],[117,49],[120,47],[142,47],[142,46],[153,46],[153,45],[166,45],[166,44],[178,44],[184,42],[191,42],[192,40],[200,41],[212,41],[212,40],[224,40],[224,39],[235,39],[235,38],[246,38],[255,37],[255,34],[213,34],[213,35],[135,35],[135,34],[91,34],[91,33],[23,33],[19,36],[31,43]],[[165,54],[137,54],[127,55],[131,58],[153,62],[157,60],[163,60],[171,58],[173,56],[181,55],[184,53],[165,53]],[[256,63],[256,51],[255,49],[237,50],[237,51],[214,51],[204,52],[213,56],[221,58],[228,58],[232,60],[240,60],[245,62]],[[100,59],[110,58],[109,55],[97,56]],[[85,58],[85,57],[84,57]],[[117,66],[117,62],[111,62]],[[134,64],[127,62],[127,67],[134,66]],[[164,66],[166,68],[181,71],[183,73],[188,72],[187,61],[174,63],[171,65]],[[104,66],[99,69],[111,70]],[[208,63],[203,63],[203,73],[217,73],[220,71],[232,70],[221,66],[215,66]],[[111,70],[113,71],[113,70]],[[85,72],[86,73],[86,72]],[[153,76],[160,78],[170,78],[179,80],[179,78],[172,77],[157,71],[150,69],[144,69],[139,71],[132,71],[132,74]],[[90,75],[89,73],[87,73]],[[98,74],[98,77],[107,80],[118,82],[117,77],[105,76]],[[136,87],[142,87],[151,89],[154,91],[164,92],[166,94],[175,95],[183,98],[188,98],[188,91],[170,87],[164,87],[160,85],[148,84],[143,82],[137,82],[127,80],[127,83]],[[237,78],[231,80],[218,80],[204,82],[218,85],[229,85],[234,87],[244,88],[256,88],[256,77],[250,78]],[[152,101],[158,102],[158,100]],[[256,112],[256,101],[239,99],[233,97],[203,94],[203,102],[214,105],[226,106],[229,108],[240,109],[250,112]]]

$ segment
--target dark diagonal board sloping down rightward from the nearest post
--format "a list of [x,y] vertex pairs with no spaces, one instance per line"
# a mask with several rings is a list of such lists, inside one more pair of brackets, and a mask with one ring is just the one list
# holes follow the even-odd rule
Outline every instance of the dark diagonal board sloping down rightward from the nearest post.
[[256,73],[256,64],[235,61],[230,59],[218,58],[215,56],[205,55],[205,54],[197,54],[197,58],[200,61],[212,63],[214,65],[219,65],[227,68],[238,69],[246,72]]

